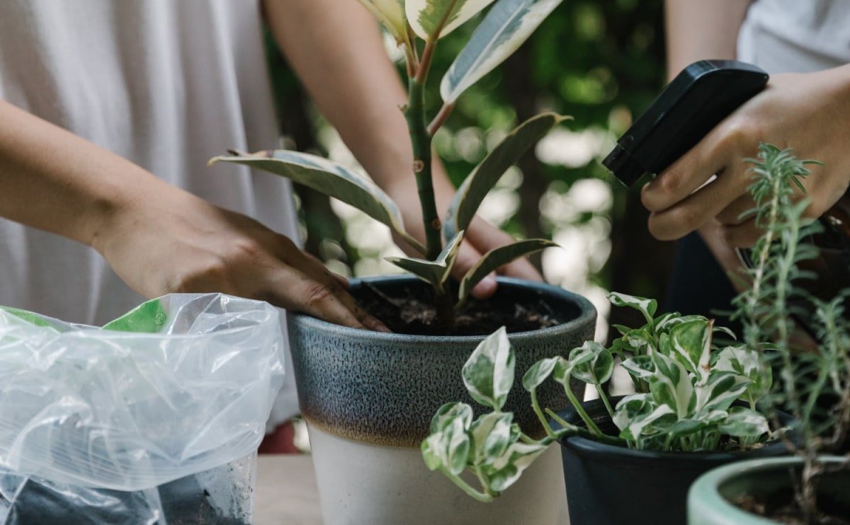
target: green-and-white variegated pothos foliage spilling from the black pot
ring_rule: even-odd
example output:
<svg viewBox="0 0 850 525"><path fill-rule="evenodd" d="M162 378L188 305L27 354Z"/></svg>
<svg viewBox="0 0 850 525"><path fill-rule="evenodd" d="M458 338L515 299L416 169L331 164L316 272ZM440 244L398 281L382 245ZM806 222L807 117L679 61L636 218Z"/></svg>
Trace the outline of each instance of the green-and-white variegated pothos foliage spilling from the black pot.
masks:
<svg viewBox="0 0 850 525"><path fill-rule="evenodd" d="M542 359L523 376L545 437L529 437L513 422L513 414L501 411L514 377L513 349L501 329L479 344L462 369L470 396L491 411L473 419L468 404L443 405L422 442L428 468L443 472L477 500L490 501L561 437L579 435L659 452L745 449L768 439L768 420L757 411L756 403L772 381L757 351L744 345L717 347L714 333L728 330L715 327L711 319L676 313L656 318L654 300L618 293L609 299L638 309L646 324L636 329L618 327L621 338L610 348L586 342L574 348L569 358ZM602 385L614 371L615 356L624 359L637 393L613 407ZM584 426L541 408L537 388L550 377L564 387ZM599 429L570 390L570 378L597 389L618 435ZM733 405L736 400L744 403ZM471 471L480 488L461 477L463 471Z"/></svg>

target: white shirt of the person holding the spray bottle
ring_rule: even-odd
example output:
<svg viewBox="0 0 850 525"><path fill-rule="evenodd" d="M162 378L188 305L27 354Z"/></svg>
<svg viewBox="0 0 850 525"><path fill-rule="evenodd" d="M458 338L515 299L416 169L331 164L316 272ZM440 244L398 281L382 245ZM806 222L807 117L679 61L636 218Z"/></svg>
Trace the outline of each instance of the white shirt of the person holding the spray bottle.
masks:
<svg viewBox="0 0 850 525"><path fill-rule="evenodd" d="M850 0L757 0L738 36L738 59L768 73L850 62Z"/></svg>

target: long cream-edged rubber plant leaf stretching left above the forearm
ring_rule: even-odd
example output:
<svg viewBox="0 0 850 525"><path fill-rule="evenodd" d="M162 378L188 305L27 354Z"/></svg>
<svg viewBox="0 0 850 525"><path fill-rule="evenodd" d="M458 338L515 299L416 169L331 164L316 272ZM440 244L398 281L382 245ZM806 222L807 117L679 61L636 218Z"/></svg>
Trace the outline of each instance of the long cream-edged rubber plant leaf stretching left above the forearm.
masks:
<svg viewBox="0 0 850 525"><path fill-rule="evenodd" d="M336 162L316 155L288 150L267 150L253 154L234 152L233 155L217 156L209 161L210 164L216 162L241 164L275 173L337 200L342 200L378 222L386 224L416 250L425 253L422 243L405 232L399 207L389 198L389 195L368 178Z"/></svg>

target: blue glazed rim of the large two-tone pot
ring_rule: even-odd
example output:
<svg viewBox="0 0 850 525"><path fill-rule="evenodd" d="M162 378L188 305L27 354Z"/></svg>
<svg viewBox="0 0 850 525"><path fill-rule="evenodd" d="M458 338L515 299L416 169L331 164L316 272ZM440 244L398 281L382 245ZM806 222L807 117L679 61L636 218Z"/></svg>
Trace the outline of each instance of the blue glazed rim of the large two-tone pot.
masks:
<svg viewBox="0 0 850 525"><path fill-rule="evenodd" d="M540 330L529 330L524 332L511 332L508 334L511 341L518 342L525 339L536 339L538 337L558 336L564 331L569 331L574 327L580 327L596 319L596 308L586 297L580 296L571 291L566 291L563 288L554 285L547 285L536 281L514 279L513 277L498 277L498 282L501 285L513 285L532 290L541 291L548 296L559 296L561 300L574 302L581 312L575 319L570 319L566 323L541 328ZM382 275L380 277L365 277L362 279L351 279L350 285L359 285L360 283L368 282L371 284L381 284L384 282L393 282L399 280L407 280L416 282L416 277L412 275ZM370 342L398 342L399 339L416 342L439 342L439 343L471 343L479 342L486 336L424 336L417 334L396 334L387 332L377 332L373 330L361 330L343 325L335 325L321 319L314 318L306 313L287 313L297 319L299 325L304 328L312 328L320 330L325 334L333 334L335 336L344 336L353 340L370 341Z"/></svg>

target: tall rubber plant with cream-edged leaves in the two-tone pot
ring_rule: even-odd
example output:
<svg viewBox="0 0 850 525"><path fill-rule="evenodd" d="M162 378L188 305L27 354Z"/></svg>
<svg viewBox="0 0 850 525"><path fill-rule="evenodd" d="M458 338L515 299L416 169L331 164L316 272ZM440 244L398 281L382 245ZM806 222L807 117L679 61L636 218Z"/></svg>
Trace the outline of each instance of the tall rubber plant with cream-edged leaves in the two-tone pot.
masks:
<svg viewBox="0 0 850 525"><path fill-rule="evenodd" d="M445 221L440 221L432 182L433 134L445 123L462 93L482 76L500 65L530 37L561 0L359 0L392 35L404 51L409 101L404 108L413 146L411 177L422 206L425 244L405 231L399 207L390 197L359 173L326 159L295 151L261 151L254 154L231 152L212 162L235 162L272 172L302 183L365 212L387 225L422 258L393 257L400 268L433 287L439 322L452 325L478 282L497 268L554 246L548 240L524 240L484 254L480 262L462 278L457 296L450 294L446 281L455 262L464 230L477 212L484 196L501 175L549 130L566 117L545 113L525 121L507 134L457 190ZM457 55L439 86L443 106L432 120L425 115L424 93L434 50L439 39L494 5L461 53ZM445 240L445 242L444 242Z"/></svg>

